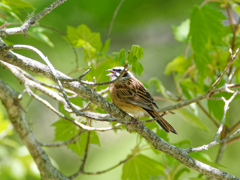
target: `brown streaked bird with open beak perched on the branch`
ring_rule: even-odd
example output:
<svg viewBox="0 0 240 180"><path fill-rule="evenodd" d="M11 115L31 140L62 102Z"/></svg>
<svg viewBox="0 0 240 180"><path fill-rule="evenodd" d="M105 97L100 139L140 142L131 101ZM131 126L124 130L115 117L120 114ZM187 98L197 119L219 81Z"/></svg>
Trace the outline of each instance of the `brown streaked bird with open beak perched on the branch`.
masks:
<svg viewBox="0 0 240 180"><path fill-rule="evenodd" d="M107 74L107 76L110 76L110 81L116 80L124 69L121 66L107 69L106 71L110 71ZM177 134L177 131L155 110L158 106L153 97L130 71L125 70L118 81L111 83L109 92L112 103L126 113L139 118L140 115L147 112L152 118L157 118L156 122L167 133Z"/></svg>

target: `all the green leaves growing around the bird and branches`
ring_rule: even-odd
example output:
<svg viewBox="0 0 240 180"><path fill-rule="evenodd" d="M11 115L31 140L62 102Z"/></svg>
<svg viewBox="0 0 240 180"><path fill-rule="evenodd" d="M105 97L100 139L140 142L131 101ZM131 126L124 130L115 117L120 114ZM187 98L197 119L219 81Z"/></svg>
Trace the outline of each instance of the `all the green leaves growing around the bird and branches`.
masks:
<svg viewBox="0 0 240 180"><path fill-rule="evenodd" d="M234 9L239 14L240 6L238 4L234 5ZM222 4L222 6L224 6L224 4ZM6 19L0 18L1 22L8 20L17 23L22 23L24 18L26 18L26 16L24 16L24 18L22 17L23 15L21 12L23 9L34 9L29 3L22 0L17 0L16 2L2 0L0 2L0 7L7 15ZM184 20L179 26L172 26L175 39L180 43L186 44L185 53L178 55L169 62L164 71L166 75L172 75L174 77L177 95L169 92L163 82L156 77L150 78L147 84L153 84L156 91L161 93L166 100L171 102L189 100L210 89L211 85L219 77L219 74L221 74L229 62L229 47L235 50L240 44L238 41L236 41L235 44L232 43L233 32L231 32L230 26L223 25L223 21L226 19L225 15L223 15L219 9L211 7L208 4L193 7L190 18ZM54 43L46 34L46 32L49 31L50 30L47 28L36 26L30 28L28 35L44 42L50 47L53 47ZM238 36L238 33L239 29L236 30L235 35ZM64 38L74 48L77 48L78 53L82 54L85 67L92 67L92 70L85 76L87 81L94 81L93 77L96 78L97 82L108 81L108 78L105 76L105 70L112 68L113 66L123 66L126 63L129 64L129 68L135 74L141 75L144 72L143 65L140 63L144 53L143 47L140 45L132 45L130 50L121 49L117 53L109 52L111 39L108 38L105 41L102 41L103 38L101 37L101 34L99 32L93 32L87 24L77 25L76 28L73 26L67 26L66 36ZM239 62L236 63L239 65ZM84 70L86 68L84 68ZM239 70L240 68L238 67L235 73L236 77L233 79L233 81L237 83L239 83L240 79ZM227 78L223 78L220 84L223 85L226 81ZM97 90L99 91L105 88L106 86L101 86L97 87ZM228 99L229 94L222 93L215 97L225 97ZM107 98L109 99L109 97ZM87 104L87 102L80 97L72 99L71 102L80 107L84 107ZM223 107L224 103L222 101L207 100L209 115L212 115L218 122L221 121ZM89 109L99 113L103 112L94 104L91 104ZM59 111L65 116L71 116L70 113L67 113L64 110L62 105L59 105ZM182 108L175 112L176 116L181 117L181 119L186 121L193 128L209 132L209 128L200 119L199 112L194 105L189 108ZM91 126L93 122L87 118L76 119L78 122L89 126ZM0 116L0 124L1 134L1 132L6 130L9 126L9 121ZM78 127L64 119L54 122L52 126L55 128L55 141L67 141L80 132ZM163 130L160 130L153 123L146 124L146 126L165 141L170 141L168 134ZM0 157L10 157L11 153L17 153L19 149L21 150L21 145L15 140L9 140L9 142L7 142L12 133L12 131L9 131L9 134L7 134L4 139L0 140L1 144L7 146L7 148L3 145L0 146ZM88 139L90 139L89 142ZM158 155L159 152L156 152L156 150L145 140L141 138L139 139L140 140L137 140L135 145L135 150L137 149L137 152L128 155L127 158L130 157L130 159L122 166L123 180L169 179L169 177L177 180L181 179L181 176L184 173L190 173L188 168L183 167L180 162L177 162L168 155L160 154L161 158L158 159L152 159L143 155L142 152L149 149ZM101 136L95 131L91 133L83 131L79 136L78 141L67 145L67 148L71 149L78 156L84 157L88 145L97 145L98 147L101 147ZM175 145L180 148L192 146L189 140L177 142ZM15 149L13 150L11 148ZM8 149L11 149L9 151L11 153L8 152ZM3 174L3 179L6 178L7 175L16 179L16 177L13 177L14 173L11 172L13 171L11 168L13 167L22 168L20 174L18 174L19 179L24 179L24 176L29 178L38 177L33 170L30 170L28 174L26 173L27 168L31 169L28 166L32 163L29 154L25 153L24 155L16 156L16 159L13 159L12 157L10 158L10 161L12 161L11 163L14 166L10 167L8 165L6 167L1 167L0 172ZM194 153L192 157L214 167L223 167L215 163L205 152ZM19 159L21 161L19 161ZM0 162L1 161L5 162L4 159L1 159ZM199 177L195 177L195 179L197 178Z"/></svg>

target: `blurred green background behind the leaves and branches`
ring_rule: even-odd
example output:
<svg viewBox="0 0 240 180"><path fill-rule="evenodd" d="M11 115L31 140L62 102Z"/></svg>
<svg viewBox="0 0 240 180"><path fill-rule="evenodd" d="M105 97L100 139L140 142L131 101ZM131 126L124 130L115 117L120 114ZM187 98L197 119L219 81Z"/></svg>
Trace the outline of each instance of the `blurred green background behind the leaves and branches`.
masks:
<svg viewBox="0 0 240 180"><path fill-rule="evenodd" d="M30 4L36 8L34 11L34 14L36 14L54 1L28 0L27 2L30 2ZM63 33L66 33L68 25L77 27L80 24L86 24L92 32L100 32L102 40L105 40L108 26L119 2L119 0L68 0L53 10L50 14L46 15L39 21L39 23L57 29ZM164 69L168 62L179 54L184 53L186 44L174 40L172 25L179 25L182 21L189 18L192 8L202 2L202 0L125 0L113 24L110 35L111 45L109 52L119 52L122 48L127 50L131 49L133 44L142 46L144 49L144 58L141 60L141 63L144 66L145 71L142 76L138 78L147 82L150 77L158 77L168 90L175 92L174 80L171 76L166 76L164 74ZM212 5L214 6L214 4ZM31 14L31 12L28 13ZM14 42L16 44L29 44L35 46L49 58L56 69L63 73L69 73L75 68L75 55L71 46L61 37L61 35L54 31L49 30L47 35L53 42L54 47L49 47L32 37L24 38L22 35L9 36L6 39L6 42L9 44ZM16 52L42 62L42 60L34 53L24 50ZM86 64L82 60L83 55L81 51L77 50L77 53L80 67L86 67ZM78 77L79 74L73 74L72 77ZM2 67L0 69L0 78L10 84L17 91L21 92L21 90L23 90L23 86L16 81L13 75L7 70L3 70ZM149 87L149 91L155 96L160 96L160 94L154 90L153 86ZM43 98L46 98L57 107L56 102L46 96L43 96ZM28 99L29 97L24 95L23 105L27 104ZM167 102L157 101L157 103L160 107L168 105ZM204 101L202 104L206 105ZM236 106L231 106L232 112L236 112L234 107ZM52 142L54 139L54 128L51 127L51 124L57 121L58 117L35 100L31 102L30 106L28 106L27 111L27 119L37 139L43 143ZM205 122L209 129L214 133L207 133L195 129L175 115L167 115L166 119L179 133L177 136L169 134L171 143L190 139L193 147L196 147L212 141L214 133L216 132L215 126L213 126L208 118L201 114L201 112L200 119ZM106 127L108 124L102 123L101 126ZM89 172L104 170L117 164L119 161L125 159L127 154L131 153L131 149L134 148L136 144L136 134L129 134L126 131L118 131L118 133L109 131L99 133L99 135L102 147L90 146L85 169ZM12 137L19 141L15 134L12 135ZM217 148L218 146L215 146L207 152L212 160L215 160L216 158ZM239 143L234 143L227 148L222 159L222 164L227 168L225 170L236 176L240 176L239 162L235 161L235 159L240 158L238 153L239 148ZM78 170L81 158L72 153L71 150L64 147L44 149L47 151L55 165L64 174L71 175ZM144 154L155 160L161 159L161 155L157 156L153 154L152 151L144 151ZM19 166L16 167L18 168ZM122 166L101 175L80 175L77 179L120 180L122 173L121 170ZM196 174L195 171L191 171L190 175L185 173L184 176L188 179L187 177L194 177ZM24 176L24 174L20 176ZM3 177L3 179L4 178L5 177ZM9 177L9 179L11 178L15 179L14 176ZM36 179L39 178L36 177Z"/></svg>

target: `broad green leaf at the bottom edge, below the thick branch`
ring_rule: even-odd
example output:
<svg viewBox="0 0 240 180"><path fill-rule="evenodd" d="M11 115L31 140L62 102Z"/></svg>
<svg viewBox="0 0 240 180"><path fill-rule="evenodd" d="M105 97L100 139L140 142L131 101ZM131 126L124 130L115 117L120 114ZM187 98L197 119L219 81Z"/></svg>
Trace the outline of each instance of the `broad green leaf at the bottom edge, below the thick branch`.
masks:
<svg viewBox="0 0 240 180"><path fill-rule="evenodd" d="M122 180L146 180L164 174L159 162L139 154L123 165Z"/></svg>

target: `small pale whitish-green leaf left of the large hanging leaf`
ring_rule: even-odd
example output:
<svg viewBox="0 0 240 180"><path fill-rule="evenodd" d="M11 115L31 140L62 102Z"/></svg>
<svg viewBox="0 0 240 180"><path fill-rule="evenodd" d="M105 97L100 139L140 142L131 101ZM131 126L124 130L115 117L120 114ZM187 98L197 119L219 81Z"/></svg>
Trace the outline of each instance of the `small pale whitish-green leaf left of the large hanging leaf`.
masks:
<svg viewBox="0 0 240 180"><path fill-rule="evenodd" d="M172 26L174 37L179 42L187 42L190 19L186 19L179 26Z"/></svg>

